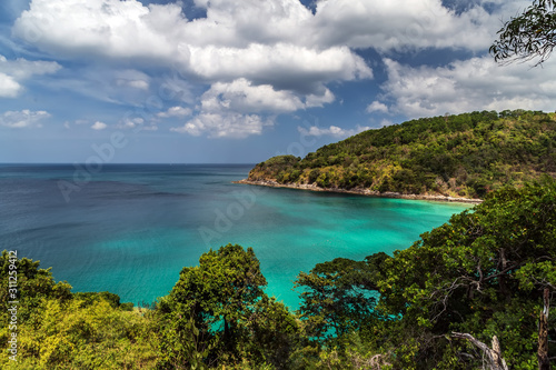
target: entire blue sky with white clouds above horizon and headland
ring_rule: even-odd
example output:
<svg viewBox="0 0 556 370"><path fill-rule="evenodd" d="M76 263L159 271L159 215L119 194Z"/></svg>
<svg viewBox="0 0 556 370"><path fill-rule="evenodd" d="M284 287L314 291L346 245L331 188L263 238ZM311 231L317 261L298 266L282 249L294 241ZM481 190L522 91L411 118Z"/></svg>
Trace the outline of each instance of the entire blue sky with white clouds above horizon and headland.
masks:
<svg viewBox="0 0 556 370"><path fill-rule="evenodd" d="M0 162L257 163L364 130L554 111L488 54L513 0L2 0Z"/></svg>

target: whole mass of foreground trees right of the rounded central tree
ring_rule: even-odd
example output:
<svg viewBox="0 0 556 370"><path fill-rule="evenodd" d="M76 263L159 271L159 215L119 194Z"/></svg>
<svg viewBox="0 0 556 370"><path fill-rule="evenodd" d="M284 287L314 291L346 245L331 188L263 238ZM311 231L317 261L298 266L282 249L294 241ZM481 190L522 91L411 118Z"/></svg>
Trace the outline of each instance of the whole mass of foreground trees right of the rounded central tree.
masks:
<svg viewBox="0 0 556 370"><path fill-rule="evenodd" d="M342 366L379 357L394 369L479 369L485 353L473 343L496 337L510 368L537 369L543 292L556 293L555 246L556 182L505 187L393 257L301 273L300 318L306 334L336 348L320 357L326 366L336 353ZM553 314L549 353L555 322Z"/></svg>

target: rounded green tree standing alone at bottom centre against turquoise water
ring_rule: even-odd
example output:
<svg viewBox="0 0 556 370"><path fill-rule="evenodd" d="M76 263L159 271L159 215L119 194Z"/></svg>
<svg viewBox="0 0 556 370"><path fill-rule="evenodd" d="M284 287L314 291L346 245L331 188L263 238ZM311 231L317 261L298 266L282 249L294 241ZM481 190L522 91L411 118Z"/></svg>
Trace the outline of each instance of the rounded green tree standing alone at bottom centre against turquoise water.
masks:
<svg viewBox="0 0 556 370"><path fill-rule="evenodd" d="M157 306L162 327L159 368L239 361L282 368L296 342L297 323L284 304L267 297L266 284L254 250L237 244L210 250L199 266L183 268Z"/></svg>

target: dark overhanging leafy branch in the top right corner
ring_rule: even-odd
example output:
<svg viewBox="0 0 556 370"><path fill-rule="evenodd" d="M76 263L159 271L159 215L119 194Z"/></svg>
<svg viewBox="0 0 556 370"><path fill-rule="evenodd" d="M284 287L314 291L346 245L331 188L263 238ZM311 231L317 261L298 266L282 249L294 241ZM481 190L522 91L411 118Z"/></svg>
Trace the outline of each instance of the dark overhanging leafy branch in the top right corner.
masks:
<svg viewBox="0 0 556 370"><path fill-rule="evenodd" d="M512 18L498 31L490 53L499 62L528 61L539 58L537 66L556 46L556 1L535 0L523 14Z"/></svg>

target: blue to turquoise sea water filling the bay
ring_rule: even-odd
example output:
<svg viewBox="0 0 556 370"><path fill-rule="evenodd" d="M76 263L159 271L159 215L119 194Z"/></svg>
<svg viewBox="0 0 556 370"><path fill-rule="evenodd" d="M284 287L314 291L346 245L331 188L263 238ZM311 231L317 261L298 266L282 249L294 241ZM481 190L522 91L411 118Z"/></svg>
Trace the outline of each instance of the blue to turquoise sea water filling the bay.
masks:
<svg viewBox="0 0 556 370"><path fill-rule="evenodd" d="M0 164L0 250L40 260L73 291L122 302L168 294L210 248L252 247L267 293L337 257L405 249L468 204L274 189L231 181L252 164Z"/></svg>

